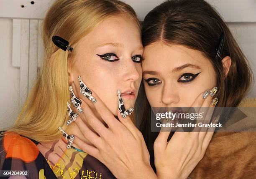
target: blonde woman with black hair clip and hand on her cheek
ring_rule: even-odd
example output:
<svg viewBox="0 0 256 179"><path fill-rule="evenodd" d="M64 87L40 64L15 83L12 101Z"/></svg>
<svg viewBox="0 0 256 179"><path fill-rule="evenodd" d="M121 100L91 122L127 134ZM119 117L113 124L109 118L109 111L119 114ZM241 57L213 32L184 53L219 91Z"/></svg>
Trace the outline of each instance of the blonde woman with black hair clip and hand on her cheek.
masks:
<svg viewBox="0 0 256 179"><path fill-rule="evenodd" d="M143 136L129 118L143 55L131 6L118 0L56 0L42 37L45 54L36 84L18 119L2 132L0 170L23 171L31 179L156 178ZM203 153L192 155L193 165ZM180 160L161 156L168 166Z"/></svg>

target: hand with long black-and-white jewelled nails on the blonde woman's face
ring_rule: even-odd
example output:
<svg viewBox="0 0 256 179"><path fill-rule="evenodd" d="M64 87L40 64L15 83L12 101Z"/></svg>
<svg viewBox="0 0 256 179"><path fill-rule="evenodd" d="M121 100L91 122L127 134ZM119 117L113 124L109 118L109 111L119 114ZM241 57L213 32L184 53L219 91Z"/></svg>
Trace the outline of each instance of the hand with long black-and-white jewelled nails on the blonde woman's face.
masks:
<svg viewBox="0 0 256 179"><path fill-rule="evenodd" d="M122 118L117 109L120 120L118 121L99 96L93 91L92 94L97 99L97 102L93 103L94 107L108 127L102 124L85 102L86 100L83 100L84 97L80 95L84 112L79 114L75 122L84 138L92 145L85 143L77 136L75 136L74 144L105 164L118 179L155 179L156 174L150 166L149 153L141 132L129 116Z"/></svg>

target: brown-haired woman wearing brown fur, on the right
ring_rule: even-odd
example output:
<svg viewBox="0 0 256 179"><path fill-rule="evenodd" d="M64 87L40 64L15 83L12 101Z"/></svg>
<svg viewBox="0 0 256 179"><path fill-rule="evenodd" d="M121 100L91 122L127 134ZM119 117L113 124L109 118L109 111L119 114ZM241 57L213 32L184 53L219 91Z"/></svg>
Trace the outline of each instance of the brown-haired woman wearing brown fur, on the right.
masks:
<svg viewBox="0 0 256 179"><path fill-rule="evenodd" d="M168 0L157 6L144 19L142 41L147 99L141 131L153 168L153 143L158 133L150 131L151 107L192 106L200 93L215 86L217 106L256 106L253 99L241 102L253 81L246 57L206 1ZM253 127L255 123L247 129ZM215 133L190 177L254 178L255 141L255 132Z"/></svg>

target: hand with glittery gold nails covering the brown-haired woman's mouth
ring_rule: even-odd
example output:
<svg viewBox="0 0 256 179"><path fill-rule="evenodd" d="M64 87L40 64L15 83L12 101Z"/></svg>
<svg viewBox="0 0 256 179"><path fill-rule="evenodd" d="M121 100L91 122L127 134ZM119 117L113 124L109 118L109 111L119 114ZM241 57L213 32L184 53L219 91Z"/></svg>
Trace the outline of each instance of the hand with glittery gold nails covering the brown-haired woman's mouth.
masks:
<svg viewBox="0 0 256 179"><path fill-rule="evenodd" d="M197 113L204 113L203 123L210 122L214 111L211 106L212 96L202 98L201 93L192 106L201 106ZM199 120L197 121L198 124ZM217 123L217 120L213 123ZM154 156L156 174L159 179L186 179L192 170L203 158L207 149L214 128L196 127L192 132L176 131L169 142L167 142L170 132L160 131L154 142Z"/></svg>

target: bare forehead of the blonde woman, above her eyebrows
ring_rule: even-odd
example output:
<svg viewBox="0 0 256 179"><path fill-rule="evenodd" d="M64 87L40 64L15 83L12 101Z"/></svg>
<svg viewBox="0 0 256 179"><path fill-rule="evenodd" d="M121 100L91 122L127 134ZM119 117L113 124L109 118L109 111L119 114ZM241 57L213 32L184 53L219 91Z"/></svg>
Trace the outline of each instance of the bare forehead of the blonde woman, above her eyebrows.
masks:
<svg viewBox="0 0 256 179"><path fill-rule="evenodd" d="M120 43L131 45L141 43L141 35L138 26L127 15L113 15L103 20L89 34L81 40L81 45L90 43L91 47L97 47L105 43Z"/></svg>

